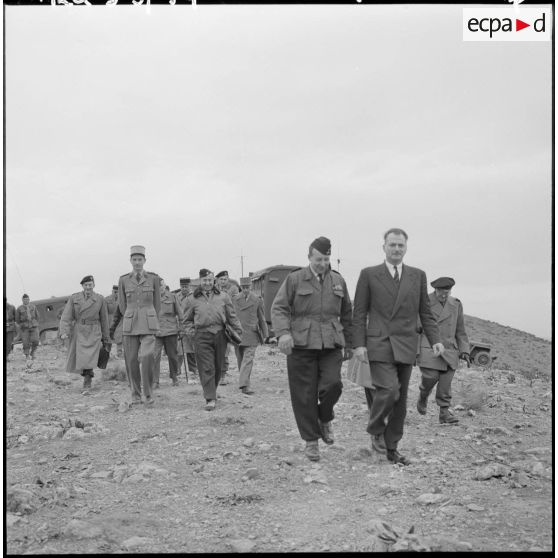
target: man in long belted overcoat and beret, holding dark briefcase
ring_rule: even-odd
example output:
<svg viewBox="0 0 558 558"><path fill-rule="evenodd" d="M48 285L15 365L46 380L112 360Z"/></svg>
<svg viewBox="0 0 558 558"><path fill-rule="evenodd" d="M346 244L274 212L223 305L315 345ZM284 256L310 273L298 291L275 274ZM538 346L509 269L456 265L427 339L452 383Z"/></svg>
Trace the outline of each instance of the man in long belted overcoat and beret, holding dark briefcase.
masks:
<svg viewBox="0 0 558 558"><path fill-rule="evenodd" d="M93 276L86 275L80 283L83 291L72 294L66 302L59 333L61 339L67 339L71 332L66 372L79 372L87 389L91 387L101 346L109 343L109 323L107 303L94 292Z"/></svg>

